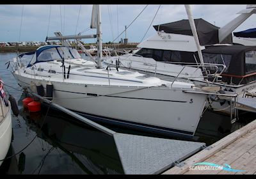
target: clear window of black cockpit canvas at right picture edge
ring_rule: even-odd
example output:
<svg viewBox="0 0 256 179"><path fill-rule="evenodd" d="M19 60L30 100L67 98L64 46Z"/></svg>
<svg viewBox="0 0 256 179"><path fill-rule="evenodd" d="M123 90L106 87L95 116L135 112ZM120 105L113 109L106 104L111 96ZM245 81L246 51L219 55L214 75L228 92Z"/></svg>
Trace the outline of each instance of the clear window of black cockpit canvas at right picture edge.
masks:
<svg viewBox="0 0 256 179"><path fill-rule="evenodd" d="M246 74L256 72L256 51L245 52L245 71Z"/></svg>

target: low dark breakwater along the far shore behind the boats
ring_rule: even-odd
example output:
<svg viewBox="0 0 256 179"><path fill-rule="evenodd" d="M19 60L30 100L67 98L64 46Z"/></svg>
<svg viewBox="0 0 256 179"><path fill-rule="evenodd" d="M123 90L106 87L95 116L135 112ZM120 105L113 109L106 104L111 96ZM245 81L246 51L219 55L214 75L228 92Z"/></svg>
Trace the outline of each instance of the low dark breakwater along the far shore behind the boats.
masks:
<svg viewBox="0 0 256 179"><path fill-rule="evenodd" d="M86 44L84 45L84 47L86 49L89 49L90 45L94 45L95 44ZM116 49L135 49L136 46L138 45L138 43L129 43L129 44L102 44L102 46L104 47L109 47L109 48L114 48L116 47ZM31 52L31 51L36 51L38 47L37 46L6 46L6 47L0 47L0 52Z"/></svg>

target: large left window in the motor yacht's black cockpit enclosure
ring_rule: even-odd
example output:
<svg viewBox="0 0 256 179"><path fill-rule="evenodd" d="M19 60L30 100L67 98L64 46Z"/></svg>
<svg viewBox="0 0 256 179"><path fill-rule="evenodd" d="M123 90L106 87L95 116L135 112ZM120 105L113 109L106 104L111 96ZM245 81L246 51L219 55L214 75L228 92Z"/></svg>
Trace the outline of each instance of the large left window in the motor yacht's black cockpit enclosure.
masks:
<svg viewBox="0 0 256 179"><path fill-rule="evenodd" d="M203 53L203 58L204 58L204 63L212 63L214 64L222 64L227 66L227 70L225 70L225 72L228 71L228 67L230 65L230 61L231 61L231 55L228 54L208 54L208 53ZM214 67L208 67L211 70L216 70L216 68ZM221 72L221 70L223 70L222 66L218 66L218 73Z"/></svg>

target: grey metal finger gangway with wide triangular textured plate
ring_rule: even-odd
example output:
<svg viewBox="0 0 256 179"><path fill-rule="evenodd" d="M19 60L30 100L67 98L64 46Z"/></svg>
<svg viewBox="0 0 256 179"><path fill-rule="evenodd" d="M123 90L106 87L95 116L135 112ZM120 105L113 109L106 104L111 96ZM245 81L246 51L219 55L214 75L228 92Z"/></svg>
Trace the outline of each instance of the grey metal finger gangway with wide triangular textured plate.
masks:
<svg viewBox="0 0 256 179"><path fill-rule="evenodd" d="M77 120L83 121L109 136L113 136L125 174L146 175L163 173L166 169L175 166L177 162L190 157L205 146L205 143L192 141L118 133L88 120L61 105L54 104L36 93L32 94L52 107L77 118Z"/></svg>

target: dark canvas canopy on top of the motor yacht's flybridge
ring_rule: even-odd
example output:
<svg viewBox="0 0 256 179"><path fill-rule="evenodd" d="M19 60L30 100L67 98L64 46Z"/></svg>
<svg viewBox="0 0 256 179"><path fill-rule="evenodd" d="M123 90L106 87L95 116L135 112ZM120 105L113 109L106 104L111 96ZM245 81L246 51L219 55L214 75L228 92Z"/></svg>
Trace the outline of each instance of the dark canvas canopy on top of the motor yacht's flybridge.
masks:
<svg viewBox="0 0 256 179"><path fill-rule="evenodd" d="M194 21L200 45L212 45L220 43L218 37L218 29L220 29L220 27L214 26L204 19L195 19ZM156 31L159 29L159 31L164 31L165 33L193 36L188 19L156 25L153 27L156 29ZM225 40L223 40L221 43L232 44L232 35L228 35L227 38L225 38Z"/></svg>

